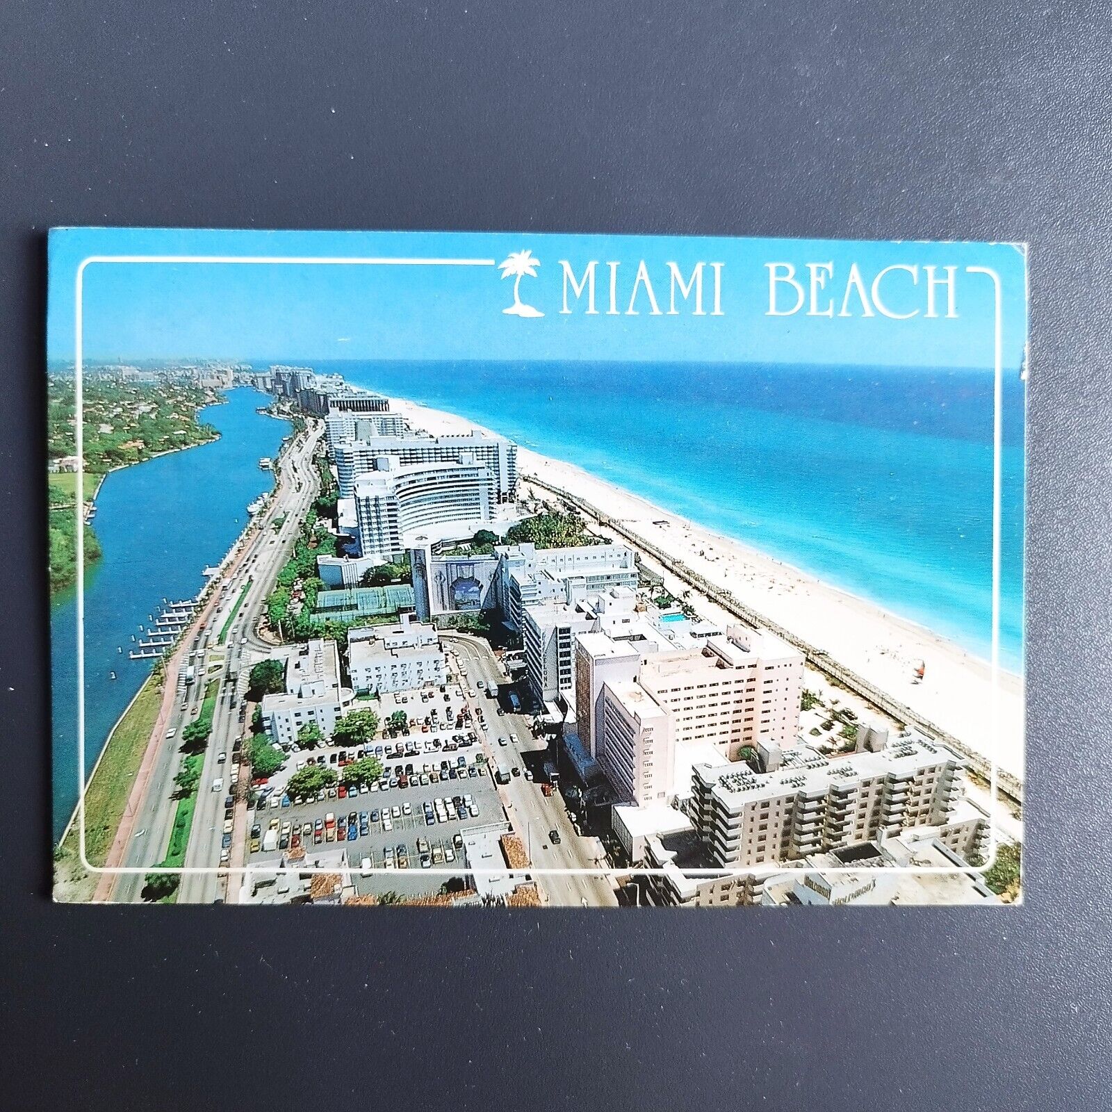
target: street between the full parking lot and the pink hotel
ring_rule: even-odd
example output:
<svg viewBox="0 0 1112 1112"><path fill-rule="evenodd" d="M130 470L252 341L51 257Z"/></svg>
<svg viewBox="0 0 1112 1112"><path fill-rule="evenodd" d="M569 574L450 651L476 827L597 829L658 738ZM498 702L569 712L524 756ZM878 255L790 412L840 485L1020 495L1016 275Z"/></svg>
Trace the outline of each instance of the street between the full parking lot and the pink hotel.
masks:
<svg viewBox="0 0 1112 1112"><path fill-rule="evenodd" d="M499 715L495 701L483 695L476 686L477 681L496 685L506 683L506 674L490 646L460 634L444 633L441 636L445 645L455 652L457 663L466 669L466 675L461 677L464 696L473 714L475 709L481 709L483 718L488 724L487 731L476 725L488 755L495 761L500 759L507 767L517 765L522 770L522 775L510 776L509 783L498 788L498 794L515 832L525 842L533 865L536 868L605 868L602 845L595 837L576 833L559 792L545 796L539 783L525 778L526 768L539 772L543 754L547 751L544 741L533 737L528 716ZM471 691L474 696L469 694ZM500 737L507 741L505 746L498 744ZM549 840L548 832L552 830L559 833L558 845L553 845ZM617 906L617 897L606 876L542 875L537 882L554 906Z"/></svg>

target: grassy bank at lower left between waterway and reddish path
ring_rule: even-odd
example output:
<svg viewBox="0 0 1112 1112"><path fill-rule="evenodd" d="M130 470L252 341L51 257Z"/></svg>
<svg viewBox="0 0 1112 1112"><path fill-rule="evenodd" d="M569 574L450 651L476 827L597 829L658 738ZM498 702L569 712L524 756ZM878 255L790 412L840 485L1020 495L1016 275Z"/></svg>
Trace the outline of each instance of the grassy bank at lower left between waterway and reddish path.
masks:
<svg viewBox="0 0 1112 1112"><path fill-rule="evenodd" d="M85 791L85 845L90 864L102 866L116 841L136 775L162 705L162 683L151 675L119 721ZM54 852L54 897L87 901L97 877L81 865L78 823Z"/></svg>

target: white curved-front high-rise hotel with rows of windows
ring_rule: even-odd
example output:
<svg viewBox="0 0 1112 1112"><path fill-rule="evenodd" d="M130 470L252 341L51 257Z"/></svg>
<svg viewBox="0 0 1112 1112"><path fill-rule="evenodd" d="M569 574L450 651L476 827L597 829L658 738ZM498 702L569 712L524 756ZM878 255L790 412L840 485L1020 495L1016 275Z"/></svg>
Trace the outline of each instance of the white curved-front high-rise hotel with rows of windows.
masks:
<svg viewBox="0 0 1112 1112"><path fill-rule="evenodd" d="M380 456L355 481L360 555L398 558L419 534L469 536L494 517L490 471L466 453L458 460L399 464Z"/></svg>

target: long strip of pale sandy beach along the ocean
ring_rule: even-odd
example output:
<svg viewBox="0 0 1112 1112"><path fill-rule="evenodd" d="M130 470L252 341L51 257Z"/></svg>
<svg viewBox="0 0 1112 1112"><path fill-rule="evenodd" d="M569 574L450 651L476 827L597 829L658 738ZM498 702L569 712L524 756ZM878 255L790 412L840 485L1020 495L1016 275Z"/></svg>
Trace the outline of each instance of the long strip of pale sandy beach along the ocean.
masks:
<svg viewBox="0 0 1112 1112"><path fill-rule="evenodd" d="M430 433L463 433L481 426L463 417L400 398L391 406ZM523 479L536 475L584 498L629 529L682 560L707 580L728 589L746 606L790 629L960 738L974 752L1023 778L1023 679L999 672L999 745L992 729L992 669L930 629L866 599L678 514L638 498L572 464L518 448ZM725 617L713 605L697 606L712 622ZM922 682L915 669L925 667ZM994 748L999 752L994 753Z"/></svg>

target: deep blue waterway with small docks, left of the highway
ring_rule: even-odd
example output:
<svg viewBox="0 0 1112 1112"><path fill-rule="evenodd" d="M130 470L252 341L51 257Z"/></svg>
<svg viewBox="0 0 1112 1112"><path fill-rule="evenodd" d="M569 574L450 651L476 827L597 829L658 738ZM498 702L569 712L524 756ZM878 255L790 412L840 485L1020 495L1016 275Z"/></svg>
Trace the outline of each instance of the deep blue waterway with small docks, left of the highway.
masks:
<svg viewBox="0 0 1112 1112"><path fill-rule="evenodd" d="M85 577L86 766L92 768L108 733L142 682L151 661L131 661L131 634L163 598L192 598L202 572L228 550L247 523L247 506L269 490L260 456L275 456L286 421L256 413L265 395L236 389L202 421L220 439L112 471L97 497L93 528L103 558ZM78 796L77 604L67 592L51 620L54 837ZM122 648L123 652L118 652ZM110 678L115 672L117 679Z"/></svg>

